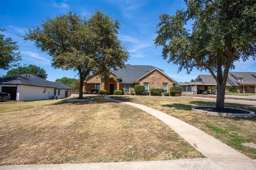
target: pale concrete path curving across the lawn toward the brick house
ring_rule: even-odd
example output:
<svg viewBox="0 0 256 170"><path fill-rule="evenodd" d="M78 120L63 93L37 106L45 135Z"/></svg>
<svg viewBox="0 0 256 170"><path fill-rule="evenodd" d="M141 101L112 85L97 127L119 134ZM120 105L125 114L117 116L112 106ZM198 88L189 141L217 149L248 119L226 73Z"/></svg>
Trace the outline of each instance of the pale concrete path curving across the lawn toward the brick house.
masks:
<svg viewBox="0 0 256 170"><path fill-rule="evenodd" d="M218 141L214 137L204 133L203 131L197 129L196 127L181 121L175 117L172 117L162 111L152 109L141 104L135 104L131 102L124 102L120 100L115 100L110 97L105 97L107 100L114 102L120 102L123 104L128 104L130 106L137 107L146 111L150 115L163 121L166 125L172 128L176 133L178 133L182 138L184 138L190 145L201 152L204 156L208 158L226 158L226 159L250 159L244 154L232 149L228 145Z"/></svg>

